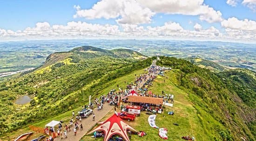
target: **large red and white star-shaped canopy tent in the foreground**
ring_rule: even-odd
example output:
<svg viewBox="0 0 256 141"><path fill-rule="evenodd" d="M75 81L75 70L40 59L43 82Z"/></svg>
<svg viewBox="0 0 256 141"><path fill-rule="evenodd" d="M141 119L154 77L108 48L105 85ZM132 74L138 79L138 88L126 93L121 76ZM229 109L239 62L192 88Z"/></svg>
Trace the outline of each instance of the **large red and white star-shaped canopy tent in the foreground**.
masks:
<svg viewBox="0 0 256 141"><path fill-rule="evenodd" d="M103 141L108 141L112 135L120 135L125 141L130 141L127 134L128 129L136 131L134 128L123 122L120 117L114 114L88 134L92 134L95 131L100 130L105 133Z"/></svg>

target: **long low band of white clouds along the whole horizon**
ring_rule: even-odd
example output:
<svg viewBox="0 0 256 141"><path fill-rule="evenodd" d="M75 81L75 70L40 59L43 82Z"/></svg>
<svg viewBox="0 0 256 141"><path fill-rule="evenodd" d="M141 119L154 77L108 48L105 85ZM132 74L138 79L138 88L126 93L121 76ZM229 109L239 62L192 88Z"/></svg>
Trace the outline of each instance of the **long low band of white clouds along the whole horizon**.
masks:
<svg viewBox="0 0 256 141"><path fill-rule="evenodd" d="M228 20L227 20L228 21ZM230 19L229 19L230 21ZM246 23L247 20L242 22ZM223 21L224 25L226 21ZM234 21L230 21L234 22ZM240 21L241 22L241 21ZM249 21L248 21L249 22ZM223 27L224 27L223 25ZM250 24L248 24L250 25ZM226 26L226 25L225 25ZM86 22L68 22L67 25L49 25L37 23L23 31L0 29L0 40L17 39L82 39L82 38L154 38L154 39L195 39L195 40L224 40L235 39L256 42L253 28L241 30L242 27L226 28L225 34L211 26L203 29L198 23L194 30L186 30L179 23L166 22L163 26L138 26L135 24L99 25ZM228 27L228 26L227 26ZM243 27L244 28L244 27ZM243 29L242 28L242 29ZM247 28L245 28L247 29Z"/></svg>

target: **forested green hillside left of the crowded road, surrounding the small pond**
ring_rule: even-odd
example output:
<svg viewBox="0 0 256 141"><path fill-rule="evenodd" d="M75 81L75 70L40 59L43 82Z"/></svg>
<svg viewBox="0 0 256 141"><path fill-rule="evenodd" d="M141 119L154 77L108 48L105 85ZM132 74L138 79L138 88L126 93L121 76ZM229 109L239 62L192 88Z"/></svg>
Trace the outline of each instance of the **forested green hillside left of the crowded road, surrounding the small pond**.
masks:
<svg viewBox="0 0 256 141"><path fill-rule="evenodd" d="M0 82L0 135L80 107L109 81L149 66L152 58L146 58L135 51L92 46L51 54L37 70ZM33 99L14 104L22 95Z"/></svg>

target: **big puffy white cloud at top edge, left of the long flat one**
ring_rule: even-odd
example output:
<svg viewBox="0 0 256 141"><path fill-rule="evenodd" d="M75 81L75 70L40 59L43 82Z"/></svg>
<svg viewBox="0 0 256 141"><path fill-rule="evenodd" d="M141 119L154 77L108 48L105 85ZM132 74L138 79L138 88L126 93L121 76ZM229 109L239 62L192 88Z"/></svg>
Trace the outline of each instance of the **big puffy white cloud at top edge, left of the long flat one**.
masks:
<svg viewBox="0 0 256 141"><path fill-rule="evenodd" d="M81 10L80 6L74 6L76 14L74 18L87 19L116 19L119 24L143 24L150 23L155 15L147 7L142 7L135 0L101 0L91 9Z"/></svg>

